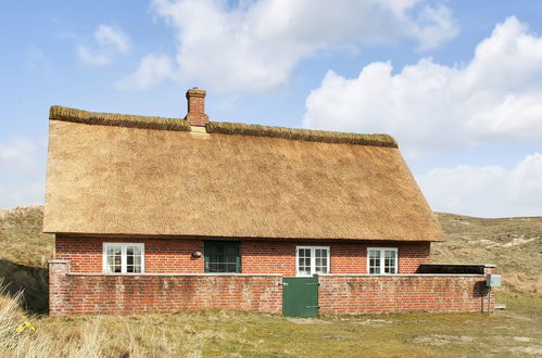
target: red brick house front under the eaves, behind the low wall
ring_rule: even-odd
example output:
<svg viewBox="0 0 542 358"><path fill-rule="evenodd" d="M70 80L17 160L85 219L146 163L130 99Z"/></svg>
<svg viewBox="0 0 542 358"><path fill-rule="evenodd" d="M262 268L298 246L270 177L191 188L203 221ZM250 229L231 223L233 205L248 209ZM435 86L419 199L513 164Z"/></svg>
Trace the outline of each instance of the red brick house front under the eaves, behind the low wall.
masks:
<svg viewBox="0 0 542 358"><path fill-rule="evenodd" d="M56 259L71 260L72 272L102 272L104 242L144 243L146 272L202 273L203 258L192 259L194 251L203 252L202 240L181 239L89 239L56 236ZM419 264L429 261L430 243L338 243L338 242L279 242L242 241L241 267L243 273L281 273L295 277L295 246L330 246L331 273L366 273L367 247L399 248L399 273L414 273Z"/></svg>

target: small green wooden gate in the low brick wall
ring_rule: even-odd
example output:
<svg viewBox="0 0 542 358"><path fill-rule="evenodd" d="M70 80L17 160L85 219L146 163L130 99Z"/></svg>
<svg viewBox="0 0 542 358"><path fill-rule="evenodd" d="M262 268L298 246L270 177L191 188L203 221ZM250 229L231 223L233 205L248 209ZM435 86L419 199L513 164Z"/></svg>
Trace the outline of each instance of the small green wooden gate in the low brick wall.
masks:
<svg viewBox="0 0 542 358"><path fill-rule="evenodd" d="M318 316L318 278L282 279L282 316Z"/></svg>

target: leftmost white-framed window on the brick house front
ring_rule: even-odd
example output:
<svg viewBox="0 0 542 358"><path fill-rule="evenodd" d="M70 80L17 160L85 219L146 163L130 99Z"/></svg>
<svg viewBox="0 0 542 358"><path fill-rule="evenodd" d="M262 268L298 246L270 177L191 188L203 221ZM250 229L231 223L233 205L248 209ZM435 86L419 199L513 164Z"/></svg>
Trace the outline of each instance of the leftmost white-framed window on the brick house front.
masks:
<svg viewBox="0 0 542 358"><path fill-rule="evenodd" d="M144 272L144 244L104 243L103 272Z"/></svg>

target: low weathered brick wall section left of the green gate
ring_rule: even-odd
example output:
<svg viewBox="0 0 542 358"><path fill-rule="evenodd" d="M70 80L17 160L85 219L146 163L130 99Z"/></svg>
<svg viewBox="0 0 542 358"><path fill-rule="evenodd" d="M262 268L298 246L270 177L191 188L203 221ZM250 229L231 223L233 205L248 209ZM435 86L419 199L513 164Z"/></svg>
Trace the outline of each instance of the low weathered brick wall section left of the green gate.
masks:
<svg viewBox="0 0 542 358"><path fill-rule="evenodd" d="M49 264L49 314L171 312L227 308L280 314L281 274L70 273Z"/></svg>

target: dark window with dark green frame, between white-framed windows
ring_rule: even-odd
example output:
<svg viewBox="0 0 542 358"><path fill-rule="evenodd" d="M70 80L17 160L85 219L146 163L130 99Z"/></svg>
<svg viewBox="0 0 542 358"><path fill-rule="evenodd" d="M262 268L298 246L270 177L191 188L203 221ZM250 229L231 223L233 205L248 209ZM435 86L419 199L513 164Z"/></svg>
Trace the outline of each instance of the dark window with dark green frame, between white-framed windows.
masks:
<svg viewBox="0 0 542 358"><path fill-rule="evenodd" d="M205 272L241 272L238 241L205 241Z"/></svg>

